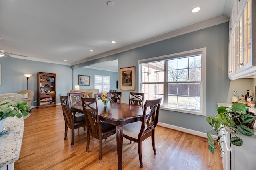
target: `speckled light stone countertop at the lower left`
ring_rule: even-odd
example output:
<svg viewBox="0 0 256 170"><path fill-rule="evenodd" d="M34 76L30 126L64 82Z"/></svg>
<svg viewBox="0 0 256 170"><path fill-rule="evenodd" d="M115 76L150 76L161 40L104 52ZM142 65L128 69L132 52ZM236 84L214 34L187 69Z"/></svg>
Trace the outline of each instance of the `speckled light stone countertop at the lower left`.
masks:
<svg viewBox="0 0 256 170"><path fill-rule="evenodd" d="M19 159L24 128L23 117L6 118L4 128L0 134L0 167Z"/></svg>

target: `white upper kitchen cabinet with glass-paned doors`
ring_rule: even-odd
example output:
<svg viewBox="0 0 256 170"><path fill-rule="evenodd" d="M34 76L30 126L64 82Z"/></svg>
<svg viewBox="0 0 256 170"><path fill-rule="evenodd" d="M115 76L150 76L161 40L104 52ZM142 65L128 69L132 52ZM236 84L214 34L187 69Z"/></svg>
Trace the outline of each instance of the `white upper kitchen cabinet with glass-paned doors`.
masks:
<svg viewBox="0 0 256 170"><path fill-rule="evenodd" d="M255 0L236 0L233 6L229 33L230 80L256 77L255 7Z"/></svg>

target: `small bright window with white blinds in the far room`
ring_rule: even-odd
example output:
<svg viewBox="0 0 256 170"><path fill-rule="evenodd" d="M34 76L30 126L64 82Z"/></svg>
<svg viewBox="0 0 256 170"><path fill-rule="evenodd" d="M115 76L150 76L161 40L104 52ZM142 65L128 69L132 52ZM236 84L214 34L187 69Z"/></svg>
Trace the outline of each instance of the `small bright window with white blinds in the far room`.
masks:
<svg viewBox="0 0 256 170"><path fill-rule="evenodd" d="M99 92L108 92L110 90L110 76L94 75L94 88L98 88Z"/></svg>

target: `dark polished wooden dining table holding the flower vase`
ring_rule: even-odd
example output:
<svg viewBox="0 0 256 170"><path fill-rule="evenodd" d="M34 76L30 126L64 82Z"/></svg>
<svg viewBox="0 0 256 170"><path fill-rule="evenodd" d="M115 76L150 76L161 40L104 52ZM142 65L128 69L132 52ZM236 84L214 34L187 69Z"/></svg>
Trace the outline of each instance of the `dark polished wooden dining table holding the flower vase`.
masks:
<svg viewBox="0 0 256 170"><path fill-rule="evenodd" d="M100 120L116 126L118 170L122 170L123 125L141 121L144 106L108 102L107 106L104 107L101 100L97 100L97 105ZM72 103L71 108L73 111L83 113L81 102Z"/></svg>

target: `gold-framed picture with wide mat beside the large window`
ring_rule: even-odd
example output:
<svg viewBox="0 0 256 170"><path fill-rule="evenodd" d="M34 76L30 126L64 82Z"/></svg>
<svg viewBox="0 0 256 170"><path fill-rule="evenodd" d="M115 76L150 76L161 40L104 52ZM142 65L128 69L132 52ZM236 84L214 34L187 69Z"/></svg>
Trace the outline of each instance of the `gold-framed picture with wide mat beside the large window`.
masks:
<svg viewBox="0 0 256 170"><path fill-rule="evenodd" d="M135 66L120 68L120 90L135 90Z"/></svg>

